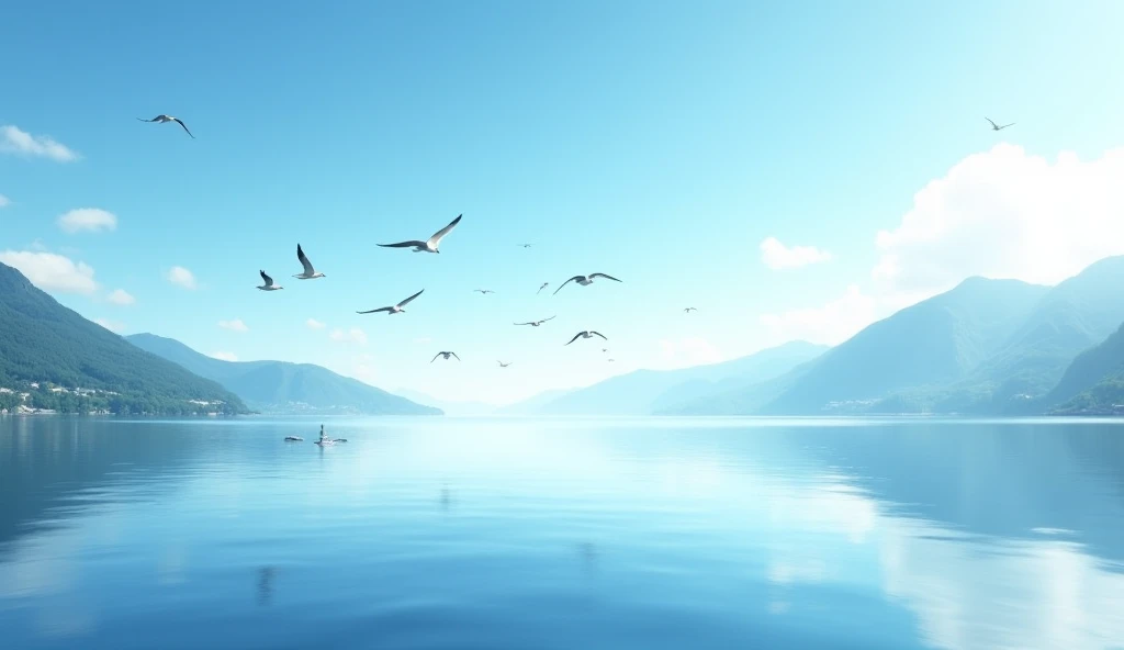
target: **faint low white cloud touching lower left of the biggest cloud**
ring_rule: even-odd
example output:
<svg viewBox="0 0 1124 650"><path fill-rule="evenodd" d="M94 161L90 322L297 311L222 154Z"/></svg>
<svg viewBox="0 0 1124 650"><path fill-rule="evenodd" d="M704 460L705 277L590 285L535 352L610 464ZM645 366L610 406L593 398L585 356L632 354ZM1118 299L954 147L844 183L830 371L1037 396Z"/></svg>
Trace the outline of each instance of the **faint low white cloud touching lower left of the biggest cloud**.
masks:
<svg viewBox="0 0 1124 650"><path fill-rule="evenodd" d="M778 342L803 340L835 345L873 323L881 314L879 308L878 300L851 285L846 294L823 307L765 314L760 321Z"/></svg>

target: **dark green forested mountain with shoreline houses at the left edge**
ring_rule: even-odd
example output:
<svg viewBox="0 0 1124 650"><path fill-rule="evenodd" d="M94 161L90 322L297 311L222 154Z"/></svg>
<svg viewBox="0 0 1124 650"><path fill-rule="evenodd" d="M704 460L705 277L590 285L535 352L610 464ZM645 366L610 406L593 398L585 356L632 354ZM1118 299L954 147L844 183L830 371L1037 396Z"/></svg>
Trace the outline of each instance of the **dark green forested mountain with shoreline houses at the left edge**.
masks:
<svg viewBox="0 0 1124 650"><path fill-rule="evenodd" d="M129 345L0 264L0 407L185 415L246 413L215 381ZM28 392L28 405L19 392Z"/></svg>

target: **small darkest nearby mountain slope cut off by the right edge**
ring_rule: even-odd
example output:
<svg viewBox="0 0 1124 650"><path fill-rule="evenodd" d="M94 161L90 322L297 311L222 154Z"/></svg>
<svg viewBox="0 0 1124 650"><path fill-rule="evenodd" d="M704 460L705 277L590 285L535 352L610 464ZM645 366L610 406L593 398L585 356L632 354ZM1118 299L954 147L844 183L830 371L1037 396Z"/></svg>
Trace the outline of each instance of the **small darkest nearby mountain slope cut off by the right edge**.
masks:
<svg viewBox="0 0 1124 650"><path fill-rule="evenodd" d="M1081 352L1045 398L1053 413L1114 413L1124 404L1124 325Z"/></svg>

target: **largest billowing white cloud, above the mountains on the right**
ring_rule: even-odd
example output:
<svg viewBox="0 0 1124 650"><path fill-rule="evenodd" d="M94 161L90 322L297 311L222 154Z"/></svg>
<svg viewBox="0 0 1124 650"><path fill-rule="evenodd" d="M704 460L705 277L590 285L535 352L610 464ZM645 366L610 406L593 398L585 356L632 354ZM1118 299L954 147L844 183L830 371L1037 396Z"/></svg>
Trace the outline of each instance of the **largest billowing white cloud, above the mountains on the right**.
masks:
<svg viewBox="0 0 1124 650"><path fill-rule="evenodd" d="M957 163L878 233L883 291L932 296L969 276L1053 285L1124 253L1124 147L1054 163L996 145Z"/></svg>

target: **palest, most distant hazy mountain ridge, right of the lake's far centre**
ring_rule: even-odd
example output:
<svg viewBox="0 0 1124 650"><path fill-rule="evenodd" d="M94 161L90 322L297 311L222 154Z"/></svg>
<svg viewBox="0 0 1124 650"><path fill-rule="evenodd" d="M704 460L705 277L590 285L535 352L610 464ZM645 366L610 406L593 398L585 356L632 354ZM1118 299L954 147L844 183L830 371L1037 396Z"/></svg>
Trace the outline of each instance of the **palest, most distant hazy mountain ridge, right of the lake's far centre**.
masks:
<svg viewBox="0 0 1124 650"><path fill-rule="evenodd" d="M715 390L723 381L755 383L779 377L826 350L804 341L756 354L678 370L636 370L540 404L536 414L650 415Z"/></svg>

